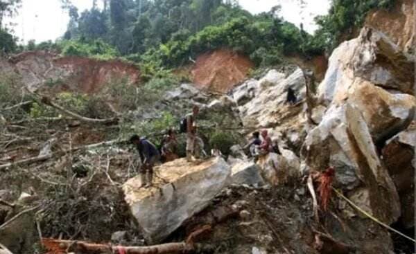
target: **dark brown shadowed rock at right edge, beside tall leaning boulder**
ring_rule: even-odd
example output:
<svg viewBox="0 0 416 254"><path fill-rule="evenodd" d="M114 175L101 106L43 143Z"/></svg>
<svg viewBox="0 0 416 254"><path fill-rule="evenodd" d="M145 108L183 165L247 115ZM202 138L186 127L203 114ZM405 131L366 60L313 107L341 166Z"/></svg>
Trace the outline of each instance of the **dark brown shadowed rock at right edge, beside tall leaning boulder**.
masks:
<svg viewBox="0 0 416 254"><path fill-rule="evenodd" d="M383 161L400 195L401 222L415 226L416 122L390 140L383 148Z"/></svg>

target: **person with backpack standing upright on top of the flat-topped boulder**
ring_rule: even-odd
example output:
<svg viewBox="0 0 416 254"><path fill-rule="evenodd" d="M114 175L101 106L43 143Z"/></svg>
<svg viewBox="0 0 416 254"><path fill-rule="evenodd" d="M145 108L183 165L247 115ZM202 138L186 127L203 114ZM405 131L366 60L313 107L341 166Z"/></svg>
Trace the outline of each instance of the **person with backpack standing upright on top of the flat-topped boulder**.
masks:
<svg viewBox="0 0 416 254"><path fill-rule="evenodd" d="M199 107L193 106L192 113L187 114L186 120L187 120L187 161L191 161L192 156L195 158L199 158L200 156L200 149L196 146L196 117L199 113Z"/></svg>

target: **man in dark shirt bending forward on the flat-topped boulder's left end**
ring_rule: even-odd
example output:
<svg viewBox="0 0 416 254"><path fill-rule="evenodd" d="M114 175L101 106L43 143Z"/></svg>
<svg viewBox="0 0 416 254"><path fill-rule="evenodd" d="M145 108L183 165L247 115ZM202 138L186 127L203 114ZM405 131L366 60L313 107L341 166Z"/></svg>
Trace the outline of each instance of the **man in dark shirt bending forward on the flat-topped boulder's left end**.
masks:
<svg viewBox="0 0 416 254"><path fill-rule="evenodd" d="M137 150L139 151L141 159L141 185L146 184L145 187L149 187L152 185L153 181L153 165L155 165L157 161L160 161L159 151L149 140L140 138L137 135L130 138L130 143L136 145Z"/></svg>

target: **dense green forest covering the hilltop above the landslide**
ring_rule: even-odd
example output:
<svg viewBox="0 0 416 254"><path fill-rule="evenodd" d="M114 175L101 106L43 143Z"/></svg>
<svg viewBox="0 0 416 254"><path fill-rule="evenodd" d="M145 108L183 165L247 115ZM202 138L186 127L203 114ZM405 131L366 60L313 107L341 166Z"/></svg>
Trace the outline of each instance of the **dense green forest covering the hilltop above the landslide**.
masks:
<svg viewBox="0 0 416 254"><path fill-rule="evenodd" d="M225 47L249 55L257 66L270 66L281 62L283 55L307 58L330 53L353 35L372 8L389 8L394 2L333 0L329 14L315 18L319 28L310 35L302 24L297 28L284 21L280 6L252 15L236 0L93 0L92 8L83 12L70 0L60 1L70 17L62 38L17 46L17 38L2 25L0 48L6 53L52 49L63 55L123 57L152 73ZM0 24L19 3L0 1Z"/></svg>

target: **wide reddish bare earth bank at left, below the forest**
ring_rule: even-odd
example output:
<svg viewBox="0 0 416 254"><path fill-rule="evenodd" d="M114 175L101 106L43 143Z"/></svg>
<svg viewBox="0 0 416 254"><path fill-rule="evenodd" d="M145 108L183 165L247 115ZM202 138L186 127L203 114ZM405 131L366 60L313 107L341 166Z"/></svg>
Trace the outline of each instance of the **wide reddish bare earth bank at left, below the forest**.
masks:
<svg viewBox="0 0 416 254"><path fill-rule="evenodd" d="M50 84L53 89L94 93L112 80L125 78L128 83L133 84L140 78L136 66L120 60L60 57L45 51L15 55L10 58L9 63L31 89ZM55 85L59 87L55 88Z"/></svg>

